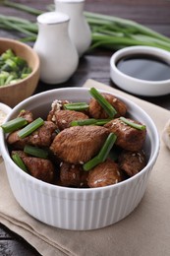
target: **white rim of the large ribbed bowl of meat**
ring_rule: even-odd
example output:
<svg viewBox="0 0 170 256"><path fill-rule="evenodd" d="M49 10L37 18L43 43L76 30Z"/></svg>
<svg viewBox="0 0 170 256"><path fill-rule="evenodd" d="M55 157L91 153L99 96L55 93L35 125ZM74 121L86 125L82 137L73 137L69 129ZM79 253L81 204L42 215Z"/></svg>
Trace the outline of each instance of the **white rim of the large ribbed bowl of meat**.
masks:
<svg viewBox="0 0 170 256"><path fill-rule="evenodd" d="M64 91L72 91L73 94L74 92L76 91L85 91L85 93L89 90L89 88L79 88L79 87L75 87L75 88L60 88L60 89L54 89L54 90L49 90L49 91L46 91L46 92L42 92L42 93L39 93L39 94L36 94L36 95L33 95L33 96L29 96L28 98L24 99L23 101L21 101L19 104L17 104L13 110L10 112L10 114L8 115L8 119L9 120L11 117L12 117L12 114L13 114L13 111L16 111L16 110L19 110L21 109L21 106L23 106L23 104L27 104L29 100L32 100L32 99L38 99L39 97L41 96L45 96L45 95L51 95L51 93L55 94L55 93L58 93L58 92L64 92ZM154 148L154 152L152 154L152 157L151 159L149 159L149 161L147 162L147 164L144 166L144 168L136 175L130 177L129 179L126 179L126 180L123 180L119 183L116 183L116 184L113 184L113 185L109 185L109 186L104 186L104 187L97 187L97 188L71 188L71 187L62 187L62 186L59 186L59 185L55 185L55 184L49 184L47 182L44 182L44 181L41 181L39 179L36 179L34 177L32 177L31 175L29 175L28 173L26 173L25 171L22 171L20 167L18 167L14 161L11 159L10 155L9 155L9 152L8 152L8 147L5 143L5 134L4 132L2 131L2 129L0 130L0 138L2 138L2 143L1 143L1 152L2 152L2 156L4 158L4 161L8 160L10 162L10 164L14 165L16 170L18 171L18 173L20 175L24 175L28 181L30 181L32 184L39 184L41 186L44 186L44 187L48 187L50 189L60 189L60 191L70 191L70 192L74 192L74 191L79 191L79 193L91 193L92 191L100 191L100 190L110 190L110 189L115 189L116 187L119 187L119 186L122 186L122 184L127 184L129 182L131 182L132 180L135 180L135 179L139 179L142 175L143 172L146 171L146 168L147 169L150 169L152 167L152 165L154 164L155 160L157 159L158 157L158 153L159 153L159 148L160 148L160 141L159 141L159 135L158 135L158 131L157 131L157 128L153 122L153 120L151 119L151 117L142 109L141 106L139 106L137 103L135 103L134 101L132 101L131 99L129 98L126 98L125 96L119 96L117 94L113 94L113 93L110 93L110 92L107 92L105 90L98 90L99 92L101 93L109 93L109 94L112 94L114 96L117 96L118 98L130 103L131 105L135 106L136 109L139 109L142 114L148 119L151 127L152 127L152 131L155 135L155 148ZM5 153L5 154L4 154ZM34 187L35 188L35 187Z"/></svg>

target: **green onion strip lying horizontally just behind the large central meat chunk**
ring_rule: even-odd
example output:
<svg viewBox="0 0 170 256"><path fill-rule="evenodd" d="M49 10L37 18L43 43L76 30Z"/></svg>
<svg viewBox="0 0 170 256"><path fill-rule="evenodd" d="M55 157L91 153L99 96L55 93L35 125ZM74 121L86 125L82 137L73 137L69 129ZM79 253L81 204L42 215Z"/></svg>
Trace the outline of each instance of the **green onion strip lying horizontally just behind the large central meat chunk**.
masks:
<svg viewBox="0 0 170 256"><path fill-rule="evenodd" d="M110 119L84 119L84 120L74 120L71 122L71 126L83 126L83 125L104 125L108 123Z"/></svg>

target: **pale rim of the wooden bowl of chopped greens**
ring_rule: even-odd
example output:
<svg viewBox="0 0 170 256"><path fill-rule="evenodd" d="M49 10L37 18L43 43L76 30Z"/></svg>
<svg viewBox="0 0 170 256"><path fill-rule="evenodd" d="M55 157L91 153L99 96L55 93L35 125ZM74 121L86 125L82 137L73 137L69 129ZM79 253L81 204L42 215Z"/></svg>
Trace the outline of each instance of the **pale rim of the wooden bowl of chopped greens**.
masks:
<svg viewBox="0 0 170 256"><path fill-rule="evenodd" d="M11 42L12 44L16 44L16 45L20 45L21 47L25 47L25 48L28 50L28 52L31 52L33 58L35 59L35 61L34 61L35 65L34 65L32 71L31 71L31 73L28 74L28 77L27 77L27 78L22 79L21 81L19 81L19 82L16 83L16 84L6 85L5 87L0 87L0 89L2 89L2 90L3 90L4 88L9 88L9 87L13 87L13 86L15 86L15 85L20 85L20 84L22 84L23 82L28 81L28 79L29 79L30 77L32 77L32 76L33 76L36 72L38 72L38 70L40 69L40 60L39 60L38 54L36 53L35 50L33 50L33 48L32 48L31 46L29 46L27 43L21 42L21 41L19 41L19 40L17 40L17 39L6 38L6 37L0 37L0 43L1 43L1 42L4 42L4 43L5 43L5 42L7 42L7 41L8 41L8 42Z"/></svg>

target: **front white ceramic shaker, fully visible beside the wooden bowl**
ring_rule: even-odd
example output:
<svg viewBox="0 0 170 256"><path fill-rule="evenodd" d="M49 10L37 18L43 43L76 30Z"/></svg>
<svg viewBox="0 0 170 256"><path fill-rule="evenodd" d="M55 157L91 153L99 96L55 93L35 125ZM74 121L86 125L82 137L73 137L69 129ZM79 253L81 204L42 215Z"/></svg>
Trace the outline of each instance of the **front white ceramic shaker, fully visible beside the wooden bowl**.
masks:
<svg viewBox="0 0 170 256"><path fill-rule="evenodd" d="M70 18L57 12L37 17L38 34L33 45L40 59L40 80L47 84L66 82L79 63L77 49L69 32Z"/></svg>

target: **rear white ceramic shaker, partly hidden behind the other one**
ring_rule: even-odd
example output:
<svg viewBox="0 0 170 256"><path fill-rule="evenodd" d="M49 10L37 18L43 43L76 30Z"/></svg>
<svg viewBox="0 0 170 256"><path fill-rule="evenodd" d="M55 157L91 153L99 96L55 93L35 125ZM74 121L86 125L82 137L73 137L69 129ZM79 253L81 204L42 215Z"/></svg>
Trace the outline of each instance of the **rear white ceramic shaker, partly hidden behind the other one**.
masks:
<svg viewBox="0 0 170 256"><path fill-rule="evenodd" d="M91 43L91 32L84 16L85 0L55 0L56 12L70 17L69 33L79 56L82 56Z"/></svg>

